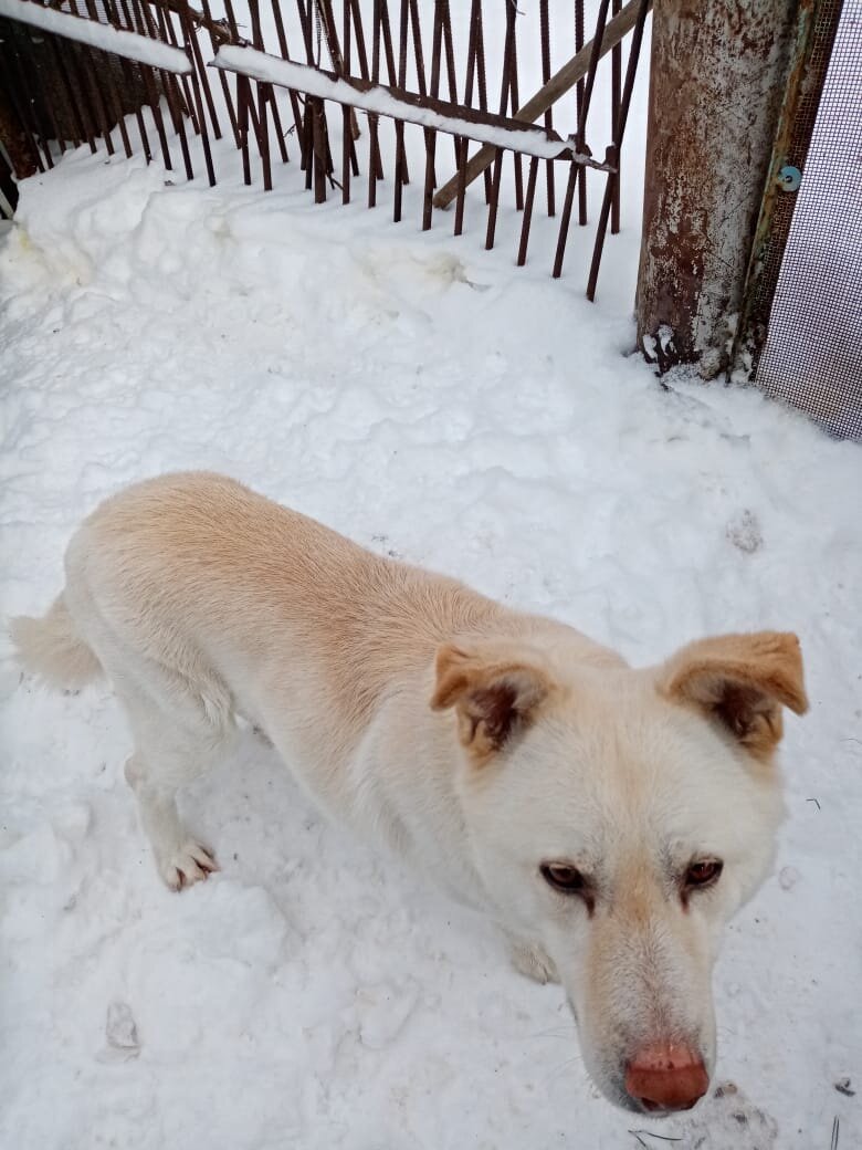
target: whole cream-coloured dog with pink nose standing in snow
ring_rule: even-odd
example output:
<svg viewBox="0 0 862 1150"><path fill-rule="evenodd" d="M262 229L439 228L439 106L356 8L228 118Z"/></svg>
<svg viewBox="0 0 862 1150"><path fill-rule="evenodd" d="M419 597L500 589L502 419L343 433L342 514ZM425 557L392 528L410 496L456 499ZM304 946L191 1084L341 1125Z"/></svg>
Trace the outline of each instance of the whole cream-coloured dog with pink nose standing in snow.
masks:
<svg viewBox="0 0 862 1150"><path fill-rule="evenodd" d="M107 500L66 573L14 638L54 684L109 676L169 887L216 869L176 791L245 716L332 818L492 915L519 969L561 979L608 1098L701 1097L722 927L772 859L782 707L807 707L795 636L634 670L203 473Z"/></svg>

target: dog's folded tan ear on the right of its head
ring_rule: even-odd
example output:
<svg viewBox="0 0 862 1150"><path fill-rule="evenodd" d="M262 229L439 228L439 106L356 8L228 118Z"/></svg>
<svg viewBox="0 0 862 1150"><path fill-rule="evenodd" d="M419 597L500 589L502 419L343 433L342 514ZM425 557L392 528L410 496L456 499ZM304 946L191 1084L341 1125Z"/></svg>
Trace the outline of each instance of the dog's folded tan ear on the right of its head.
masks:
<svg viewBox="0 0 862 1150"><path fill-rule="evenodd" d="M760 758L782 737L782 706L808 710L799 639L779 631L692 643L662 667L659 690L718 719Z"/></svg>

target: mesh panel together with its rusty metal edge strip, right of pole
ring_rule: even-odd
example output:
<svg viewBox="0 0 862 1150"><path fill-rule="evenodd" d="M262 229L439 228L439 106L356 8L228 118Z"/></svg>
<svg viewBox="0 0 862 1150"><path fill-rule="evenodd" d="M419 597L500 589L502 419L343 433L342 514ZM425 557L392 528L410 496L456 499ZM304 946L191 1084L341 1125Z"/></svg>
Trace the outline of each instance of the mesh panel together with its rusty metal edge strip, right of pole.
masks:
<svg viewBox="0 0 862 1150"><path fill-rule="evenodd" d="M862 0L802 14L737 362L832 435L862 438Z"/></svg>

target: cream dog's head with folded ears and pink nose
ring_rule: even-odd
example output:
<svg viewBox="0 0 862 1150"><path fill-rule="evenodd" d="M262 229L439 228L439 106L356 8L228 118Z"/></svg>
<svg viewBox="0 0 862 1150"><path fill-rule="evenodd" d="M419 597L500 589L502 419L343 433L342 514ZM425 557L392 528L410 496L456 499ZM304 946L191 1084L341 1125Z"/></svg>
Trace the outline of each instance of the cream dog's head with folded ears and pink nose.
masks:
<svg viewBox="0 0 862 1150"><path fill-rule="evenodd" d="M782 708L807 708L794 635L705 639L660 667L565 645L438 653L485 887L544 943L613 1102L686 1109L715 1063L722 928L764 879L783 814Z"/></svg>

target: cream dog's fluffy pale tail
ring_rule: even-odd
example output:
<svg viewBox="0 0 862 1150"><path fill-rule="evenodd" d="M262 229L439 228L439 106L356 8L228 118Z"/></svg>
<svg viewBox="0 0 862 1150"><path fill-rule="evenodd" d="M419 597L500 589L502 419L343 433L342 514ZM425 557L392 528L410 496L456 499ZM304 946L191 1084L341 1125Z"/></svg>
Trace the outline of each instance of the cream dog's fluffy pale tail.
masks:
<svg viewBox="0 0 862 1150"><path fill-rule="evenodd" d="M102 667L75 629L66 599L57 596L41 619L18 615L9 626L17 657L25 670L48 687L74 689L97 678Z"/></svg>

